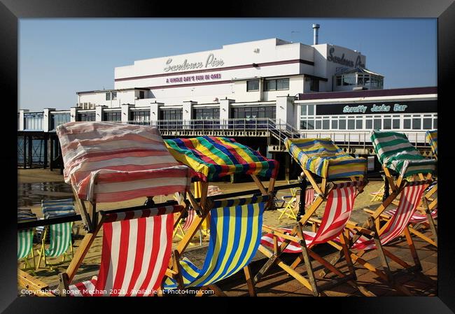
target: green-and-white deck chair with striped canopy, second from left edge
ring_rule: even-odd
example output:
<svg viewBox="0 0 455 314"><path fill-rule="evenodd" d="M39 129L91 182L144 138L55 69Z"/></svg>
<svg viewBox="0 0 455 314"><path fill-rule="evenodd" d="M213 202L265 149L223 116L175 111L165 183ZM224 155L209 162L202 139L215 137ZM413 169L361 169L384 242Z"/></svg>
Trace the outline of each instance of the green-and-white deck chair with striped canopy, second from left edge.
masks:
<svg viewBox="0 0 455 314"><path fill-rule="evenodd" d="M76 215L74 210L73 199L58 199L42 201L43 216L45 219L52 217L61 217L66 215ZM47 257L62 256L62 262L69 255L66 251L71 250L73 256L73 244L71 239L72 222L63 222L61 224L51 224L48 229L45 229L44 236L41 239L41 250L38 251L39 259L36 269L41 264L41 259L44 259L45 266L55 266L57 264L48 264ZM49 248L45 248L46 234L49 233Z"/></svg>

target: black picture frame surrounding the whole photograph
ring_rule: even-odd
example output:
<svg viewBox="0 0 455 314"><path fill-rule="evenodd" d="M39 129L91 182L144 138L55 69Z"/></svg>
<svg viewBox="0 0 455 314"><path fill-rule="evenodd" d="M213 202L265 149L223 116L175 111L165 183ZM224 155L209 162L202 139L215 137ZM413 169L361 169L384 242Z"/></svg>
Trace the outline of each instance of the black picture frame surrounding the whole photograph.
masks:
<svg viewBox="0 0 455 314"><path fill-rule="evenodd" d="M209 8L207 13L204 9ZM18 99L18 19L20 18L49 18L49 17L346 17L346 18L409 18L430 17L437 18L437 90L438 90L438 136L440 141L439 162L444 166L444 171L438 171L440 186L440 201L444 210L440 210L438 222L438 287L437 297L378 297L378 298L288 298L286 301L273 298L248 299L255 305L281 306L282 310L295 309L300 306L311 311L318 308L333 306L332 311L342 309L348 313L454 313L455 311L455 271L454 234L452 231L452 218L450 211L451 186L450 176L451 160L454 153L450 145L449 117L450 107L453 105L451 93L451 76L455 69L455 3L451 0L307 0L307 1L225 1L225 2L198 2L179 4L170 1L126 1L126 0L101 0L101 1L71 1L71 0L1 0L0 2L0 77L1 90L10 101L3 103L6 115L3 122L17 121L8 116L13 113ZM349 30L348 30L349 31ZM397 52L400 53L400 52ZM404 53L404 52L403 52ZM9 124L9 123L8 123ZM16 257L16 217L17 206L13 195L17 195L18 173L15 170L17 163L17 141L10 135L15 122L4 129L3 154L0 159L3 176L3 210L1 212L1 237L0 237L0 311L4 313L94 313L104 311L99 306L105 306L105 298L89 298L83 301L80 298L34 298L17 296L17 262ZM11 128L11 129L10 129ZM8 131L6 131L8 130ZM447 170L447 171L445 171ZM446 183L444 183L446 182ZM11 206L6 206L10 204ZM115 298L116 299L116 298ZM239 299L231 298L227 301L226 309L236 311L234 304ZM188 304L193 304L191 299L184 299L176 304L173 298L160 300L139 298L118 298L109 301L116 310L125 308L134 313L149 311L186 311ZM181 299L180 299L181 300ZM190 308L197 311L218 311L224 309L221 303L225 299L205 298L212 301L215 308ZM133 303L134 302L134 303ZM141 304L139 304L139 303ZM161 305L163 304L165 308ZM103 305L102 305L103 304ZM167 305L166 305L167 304ZM166 306L173 306L167 309ZM202 306L200 301L197 307ZM251 311L251 308L245 308Z"/></svg>

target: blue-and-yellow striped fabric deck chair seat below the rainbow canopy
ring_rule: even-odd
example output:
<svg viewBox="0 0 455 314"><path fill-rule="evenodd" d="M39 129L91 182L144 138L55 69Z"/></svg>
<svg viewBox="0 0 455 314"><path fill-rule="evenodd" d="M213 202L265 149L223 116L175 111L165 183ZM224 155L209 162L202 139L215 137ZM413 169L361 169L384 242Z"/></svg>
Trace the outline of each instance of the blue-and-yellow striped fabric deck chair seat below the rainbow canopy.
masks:
<svg viewBox="0 0 455 314"><path fill-rule="evenodd" d="M249 263L258 251L262 233L262 214L268 196L249 199L214 201L210 211L210 241L201 269L189 259L180 261L183 287L211 289L224 295L214 284L244 269L248 290L254 295ZM164 289L177 288L175 280L167 278Z"/></svg>

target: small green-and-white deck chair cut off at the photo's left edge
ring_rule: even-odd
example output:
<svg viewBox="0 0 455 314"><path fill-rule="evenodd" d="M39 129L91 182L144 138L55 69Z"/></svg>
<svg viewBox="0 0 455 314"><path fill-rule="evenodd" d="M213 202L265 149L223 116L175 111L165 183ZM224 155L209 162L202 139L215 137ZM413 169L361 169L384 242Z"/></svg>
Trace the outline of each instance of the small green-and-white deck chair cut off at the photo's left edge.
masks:
<svg viewBox="0 0 455 314"><path fill-rule="evenodd" d="M31 213L30 208L18 209L18 222L29 222L36 220L36 214ZM33 229L18 230L18 261L24 262L23 270L35 269L35 255L33 251ZM29 262L29 255L31 253L31 260L33 266Z"/></svg>

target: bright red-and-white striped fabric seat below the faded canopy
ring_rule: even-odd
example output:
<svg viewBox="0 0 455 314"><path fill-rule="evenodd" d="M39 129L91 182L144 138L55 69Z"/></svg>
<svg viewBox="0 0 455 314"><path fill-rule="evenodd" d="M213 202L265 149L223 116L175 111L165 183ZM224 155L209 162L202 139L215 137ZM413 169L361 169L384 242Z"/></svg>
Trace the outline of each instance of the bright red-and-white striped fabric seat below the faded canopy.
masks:
<svg viewBox="0 0 455 314"><path fill-rule="evenodd" d="M74 297L147 297L158 292L172 255L174 213L181 205L102 212L97 276L68 285Z"/></svg>

